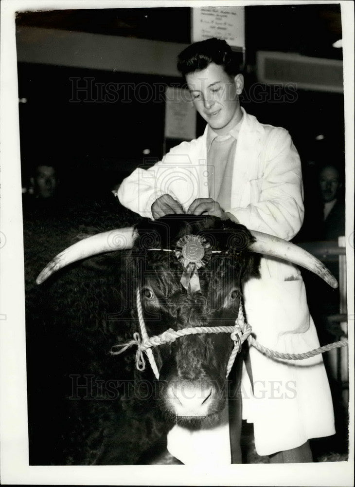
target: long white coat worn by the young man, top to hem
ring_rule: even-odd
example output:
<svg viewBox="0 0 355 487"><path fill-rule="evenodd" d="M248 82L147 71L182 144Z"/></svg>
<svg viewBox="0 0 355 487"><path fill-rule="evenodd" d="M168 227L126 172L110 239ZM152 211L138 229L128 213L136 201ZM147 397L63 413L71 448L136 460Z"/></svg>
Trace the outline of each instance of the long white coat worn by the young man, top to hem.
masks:
<svg viewBox="0 0 355 487"><path fill-rule="evenodd" d="M231 206L224 209L231 213L233 220L251 230L290 240L300 230L304 212L298 152L286 130L261 124L242 111L231 181ZM207 128L198 139L170 150L155 166L136 169L119 188L120 202L152 218L151 205L162 194L173 196L185 210L196 198L208 198L206 140ZM317 348L319 341L300 271L270 258L262 258L260 270L261 279L252 279L244 286L248 322L256 339L279 352L301 353ZM254 393L243 370L243 418L254 423L259 455L296 448L310 438L335 433L332 400L321 356L289 364L271 360L251 347L250 360ZM205 433L207 437L210 434ZM201 434L200 441L198 434L191 435L183 428L174 427L169 450L184 463L230 463L225 453L219 460L215 451L209 455L206 434ZM224 435L225 444L229 441L228 426L222 426L218 434ZM205 451L203 455L201 447ZM226 448L219 450L225 452Z"/></svg>

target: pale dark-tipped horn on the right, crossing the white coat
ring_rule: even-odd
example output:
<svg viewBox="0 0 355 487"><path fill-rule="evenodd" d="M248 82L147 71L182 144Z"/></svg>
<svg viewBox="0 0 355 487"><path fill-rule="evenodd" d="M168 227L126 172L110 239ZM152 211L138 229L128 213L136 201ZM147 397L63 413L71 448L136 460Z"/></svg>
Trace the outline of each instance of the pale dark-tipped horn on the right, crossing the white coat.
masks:
<svg viewBox="0 0 355 487"><path fill-rule="evenodd" d="M252 252L277 257L278 259L300 265L317 274L334 289L338 287L336 278L328 271L325 265L306 250L267 233L254 230L250 230L250 233L256 238L256 242L249 246Z"/></svg>

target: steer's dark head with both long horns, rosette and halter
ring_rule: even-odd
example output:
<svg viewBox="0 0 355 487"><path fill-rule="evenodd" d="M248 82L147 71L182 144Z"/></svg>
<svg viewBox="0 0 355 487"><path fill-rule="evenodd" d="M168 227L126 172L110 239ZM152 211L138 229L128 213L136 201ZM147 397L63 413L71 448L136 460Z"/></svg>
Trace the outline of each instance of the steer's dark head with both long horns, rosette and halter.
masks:
<svg viewBox="0 0 355 487"><path fill-rule="evenodd" d="M137 364L143 368L145 350L159 378L160 407L177 423L218 421L225 409L226 377L233 352L241 349L241 333L231 330L241 332L236 325L245 318L243 284L258 277L258 254L301 265L337 286L323 264L296 245L230 220L192 215L165 216L89 237L58 254L37 283L71 262L127 248L133 270L127 285L134 282L137 289L143 339L135 341L141 347ZM220 327L228 333L220 333ZM192 328L199 332L193 334ZM186 329L187 335L161 338L167 330ZM142 347L151 337L160 344ZM246 350L244 356L248 365Z"/></svg>

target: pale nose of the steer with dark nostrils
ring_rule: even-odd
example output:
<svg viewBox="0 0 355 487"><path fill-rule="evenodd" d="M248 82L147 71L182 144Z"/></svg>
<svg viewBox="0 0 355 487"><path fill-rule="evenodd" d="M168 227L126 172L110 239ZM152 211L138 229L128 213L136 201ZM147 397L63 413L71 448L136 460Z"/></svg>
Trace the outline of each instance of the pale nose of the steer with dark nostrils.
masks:
<svg viewBox="0 0 355 487"><path fill-rule="evenodd" d="M168 401L177 416L206 416L214 395L211 382L175 382L167 389Z"/></svg>

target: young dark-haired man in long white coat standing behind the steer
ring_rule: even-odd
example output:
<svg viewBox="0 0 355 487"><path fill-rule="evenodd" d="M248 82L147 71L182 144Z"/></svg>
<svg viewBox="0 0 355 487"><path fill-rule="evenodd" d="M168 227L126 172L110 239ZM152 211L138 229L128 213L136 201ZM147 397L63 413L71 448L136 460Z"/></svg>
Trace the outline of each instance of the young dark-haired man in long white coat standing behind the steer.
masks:
<svg viewBox="0 0 355 487"><path fill-rule="evenodd" d="M179 55L178 69L206 130L173 148L154 167L136 169L118 191L121 203L148 218L210 214L292 239L302 225L303 201L300 158L289 133L259 123L240 107L243 76L225 41L192 44ZM299 270L266 258L260 269L261 279L244 287L248 322L257 339L280 352L319 346ZM289 365L251 348L250 361L254 391L244 370L243 418L254 423L257 453L270 455L273 462L312 461L308 439L335 433L321 356ZM183 463L230 463L228 454L216 460L216 450L226 448L206 448L205 433L174 427L168 450ZM217 436L212 434L215 447ZM223 426L218 438L229 441Z"/></svg>

